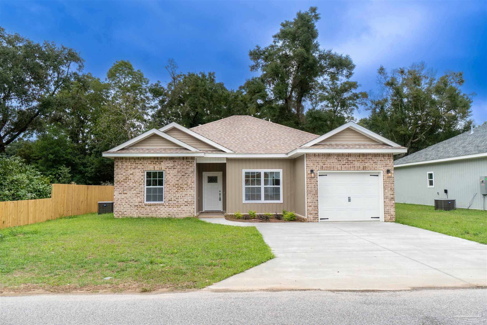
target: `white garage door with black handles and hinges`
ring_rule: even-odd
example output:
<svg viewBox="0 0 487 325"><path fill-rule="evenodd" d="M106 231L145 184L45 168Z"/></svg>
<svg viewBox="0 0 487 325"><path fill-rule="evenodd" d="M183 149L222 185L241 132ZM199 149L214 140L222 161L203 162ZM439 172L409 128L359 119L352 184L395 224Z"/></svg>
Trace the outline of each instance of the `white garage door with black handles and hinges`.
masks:
<svg viewBox="0 0 487 325"><path fill-rule="evenodd" d="M378 221L378 172L319 172L319 221Z"/></svg>

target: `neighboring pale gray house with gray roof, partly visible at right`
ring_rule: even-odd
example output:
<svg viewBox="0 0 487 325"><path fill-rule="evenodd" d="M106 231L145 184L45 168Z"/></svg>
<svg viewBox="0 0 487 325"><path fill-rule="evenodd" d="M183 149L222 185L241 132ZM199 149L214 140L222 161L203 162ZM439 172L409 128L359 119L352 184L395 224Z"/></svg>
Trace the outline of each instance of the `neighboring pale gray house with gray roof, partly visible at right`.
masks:
<svg viewBox="0 0 487 325"><path fill-rule="evenodd" d="M457 208L487 209L487 125L394 161L395 201L434 205L455 199Z"/></svg>

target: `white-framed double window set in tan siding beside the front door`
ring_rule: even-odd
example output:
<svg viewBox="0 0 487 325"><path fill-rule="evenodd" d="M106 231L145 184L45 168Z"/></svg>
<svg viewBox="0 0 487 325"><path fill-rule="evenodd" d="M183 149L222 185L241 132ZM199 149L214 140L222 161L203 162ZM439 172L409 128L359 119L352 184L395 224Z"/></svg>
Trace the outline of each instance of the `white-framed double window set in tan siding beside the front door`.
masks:
<svg viewBox="0 0 487 325"><path fill-rule="evenodd" d="M242 187L244 203L282 203L282 170L243 170Z"/></svg>

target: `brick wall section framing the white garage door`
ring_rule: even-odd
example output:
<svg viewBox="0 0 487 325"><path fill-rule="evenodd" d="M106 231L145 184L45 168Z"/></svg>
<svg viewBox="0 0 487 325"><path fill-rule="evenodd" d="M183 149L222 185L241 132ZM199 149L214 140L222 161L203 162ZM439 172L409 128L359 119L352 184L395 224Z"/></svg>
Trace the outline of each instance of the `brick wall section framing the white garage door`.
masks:
<svg viewBox="0 0 487 325"><path fill-rule="evenodd" d="M306 153L306 209L310 222L318 222L318 177L311 178L310 170L318 171L382 171L384 193L384 221L395 220L394 177L386 170L394 170L392 153ZM394 173L393 173L394 176Z"/></svg>

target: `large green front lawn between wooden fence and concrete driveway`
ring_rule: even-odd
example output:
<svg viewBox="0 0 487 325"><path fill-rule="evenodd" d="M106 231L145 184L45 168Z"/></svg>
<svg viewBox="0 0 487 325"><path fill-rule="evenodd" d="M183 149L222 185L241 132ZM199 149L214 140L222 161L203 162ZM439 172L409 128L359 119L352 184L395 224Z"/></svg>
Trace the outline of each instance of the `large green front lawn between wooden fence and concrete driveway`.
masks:
<svg viewBox="0 0 487 325"><path fill-rule="evenodd" d="M274 257L255 227L196 218L90 213L0 234L0 291L202 288Z"/></svg>

